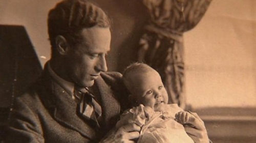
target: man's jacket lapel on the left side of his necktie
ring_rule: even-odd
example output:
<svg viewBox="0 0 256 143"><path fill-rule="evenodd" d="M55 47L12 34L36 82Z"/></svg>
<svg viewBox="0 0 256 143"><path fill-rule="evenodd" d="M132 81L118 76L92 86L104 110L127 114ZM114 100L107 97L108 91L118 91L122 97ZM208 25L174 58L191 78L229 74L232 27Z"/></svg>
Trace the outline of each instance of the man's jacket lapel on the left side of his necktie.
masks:
<svg viewBox="0 0 256 143"><path fill-rule="evenodd" d="M76 102L60 85L53 81L47 71L45 71L43 82L50 91L49 94L46 94L44 100L49 111L53 111L53 119L89 139L97 138L95 129L77 116Z"/></svg>

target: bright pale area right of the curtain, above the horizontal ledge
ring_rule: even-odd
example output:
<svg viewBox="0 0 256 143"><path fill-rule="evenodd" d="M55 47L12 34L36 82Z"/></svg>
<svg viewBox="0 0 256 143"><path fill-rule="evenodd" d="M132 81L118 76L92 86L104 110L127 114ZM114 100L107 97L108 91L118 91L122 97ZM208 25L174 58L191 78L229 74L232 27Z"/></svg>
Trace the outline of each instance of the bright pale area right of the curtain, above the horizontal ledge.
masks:
<svg viewBox="0 0 256 143"><path fill-rule="evenodd" d="M187 102L256 106L256 2L212 1L185 34Z"/></svg>

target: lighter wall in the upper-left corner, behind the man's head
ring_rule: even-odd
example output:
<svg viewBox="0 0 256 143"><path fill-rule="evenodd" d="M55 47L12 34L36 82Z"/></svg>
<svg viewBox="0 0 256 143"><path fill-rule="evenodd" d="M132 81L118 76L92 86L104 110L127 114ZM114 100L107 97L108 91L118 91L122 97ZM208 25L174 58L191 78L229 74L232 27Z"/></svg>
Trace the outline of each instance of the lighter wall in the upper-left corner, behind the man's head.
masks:
<svg viewBox="0 0 256 143"><path fill-rule="evenodd" d="M42 65L50 58L47 13L57 0L0 0L0 24L24 25Z"/></svg>

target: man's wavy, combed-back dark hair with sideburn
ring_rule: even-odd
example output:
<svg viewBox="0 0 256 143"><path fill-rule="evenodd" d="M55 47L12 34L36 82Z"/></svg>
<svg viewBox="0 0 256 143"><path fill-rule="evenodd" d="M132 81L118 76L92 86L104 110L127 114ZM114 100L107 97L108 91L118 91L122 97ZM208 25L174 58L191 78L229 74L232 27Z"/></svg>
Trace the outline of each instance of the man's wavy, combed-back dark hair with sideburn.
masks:
<svg viewBox="0 0 256 143"><path fill-rule="evenodd" d="M69 44L81 42L83 28L110 27L110 19L99 7L83 0L64 0L48 14L48 34L52 56L56 52L55 38L61 35Z"/></svg>

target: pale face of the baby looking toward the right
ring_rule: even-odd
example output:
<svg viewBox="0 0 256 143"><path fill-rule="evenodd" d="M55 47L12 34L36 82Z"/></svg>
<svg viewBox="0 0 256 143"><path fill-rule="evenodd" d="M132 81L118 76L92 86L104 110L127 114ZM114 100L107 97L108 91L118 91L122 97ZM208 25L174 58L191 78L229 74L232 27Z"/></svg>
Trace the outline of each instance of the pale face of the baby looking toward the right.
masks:
<svg viewBox="0 0 256 143"><path fill-rule="evenodd" d="M163 104L167 104L168 95L163 86L160 75L155 70L146 73L137 73L133 79L132 93L138 103L150 106L159 111Z"/></svg>

